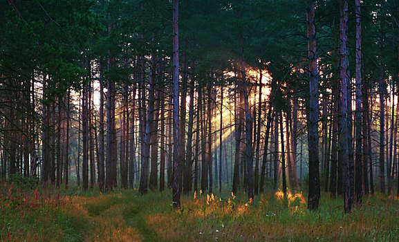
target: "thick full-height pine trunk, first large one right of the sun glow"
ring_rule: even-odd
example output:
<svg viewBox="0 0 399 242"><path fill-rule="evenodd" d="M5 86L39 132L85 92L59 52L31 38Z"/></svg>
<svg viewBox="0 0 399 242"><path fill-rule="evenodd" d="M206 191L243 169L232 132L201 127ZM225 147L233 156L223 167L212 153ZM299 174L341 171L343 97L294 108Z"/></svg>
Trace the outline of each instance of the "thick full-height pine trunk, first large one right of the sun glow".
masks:
<svg viewBox="0 0 399 242"><path fill-rule="evenodd" d="M308 118L308 153L309 153L309 193L308 209L317 210L320 198L319 181L319 136L317 133L319 120L319 91L316 55L315 1L308 2L308 58L309 58L309 118Z"/></svg>

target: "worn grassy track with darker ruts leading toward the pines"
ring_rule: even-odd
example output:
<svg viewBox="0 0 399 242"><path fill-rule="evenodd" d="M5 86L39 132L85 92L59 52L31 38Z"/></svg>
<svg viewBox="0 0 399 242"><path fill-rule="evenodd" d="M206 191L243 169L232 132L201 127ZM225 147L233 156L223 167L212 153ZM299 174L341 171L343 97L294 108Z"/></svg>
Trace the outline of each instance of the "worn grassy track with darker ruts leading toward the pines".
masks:
<svg viewBox="0 0 399 242"><path fill-rule="evenodd" d="M146 218L151 206L159 207L160 204L154 203L154 198L148 199L143 200L136 192L76 196L73 203L81 206L89 218L84 240L159 241L156 232L147 225Z"/></svg>

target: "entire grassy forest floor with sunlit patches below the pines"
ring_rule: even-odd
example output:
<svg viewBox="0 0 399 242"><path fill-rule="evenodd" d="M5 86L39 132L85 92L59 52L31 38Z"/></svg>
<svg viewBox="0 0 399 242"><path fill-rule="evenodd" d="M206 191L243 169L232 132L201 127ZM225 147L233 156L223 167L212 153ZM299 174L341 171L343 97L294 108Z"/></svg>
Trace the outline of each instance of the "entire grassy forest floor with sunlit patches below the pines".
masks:
<svg viewBox="0 0 399 242"><path fill-rule="evenodd" d="M171 192L0 185L0 241L398 241L398 198L375 194L344 214L322 194L319 210L301 192L190 194L173 210Z"/></svg>

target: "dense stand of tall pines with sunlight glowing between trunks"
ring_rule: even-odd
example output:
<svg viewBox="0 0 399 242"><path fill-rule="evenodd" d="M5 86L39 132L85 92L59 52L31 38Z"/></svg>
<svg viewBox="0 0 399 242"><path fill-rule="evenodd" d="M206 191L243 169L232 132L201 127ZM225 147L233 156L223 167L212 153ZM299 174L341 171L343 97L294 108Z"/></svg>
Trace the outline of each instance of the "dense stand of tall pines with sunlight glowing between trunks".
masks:
<svg viewBox="0 0 399 242"><path fill-rule="evenodd" d="M176 207L180 192L288 187L316 209L324 190L350 212L398 178L398 15L373 0L1 1L0 177L173 188Z"/></svg>

